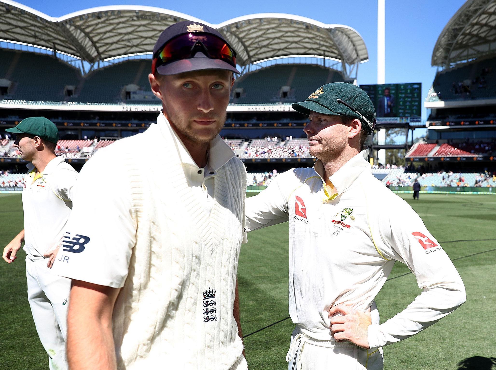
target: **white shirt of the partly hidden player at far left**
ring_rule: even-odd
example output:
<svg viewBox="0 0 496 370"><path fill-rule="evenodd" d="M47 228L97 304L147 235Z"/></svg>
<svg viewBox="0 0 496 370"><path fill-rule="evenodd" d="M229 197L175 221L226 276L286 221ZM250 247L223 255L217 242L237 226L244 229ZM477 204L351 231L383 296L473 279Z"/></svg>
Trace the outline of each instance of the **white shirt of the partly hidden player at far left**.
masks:
<svg viewBox="0 0 496 370"><path fill-rule="evenodd" d="M42 257L56 248L72 208L72 189L77 171L64 157L48 162L36 175L32 163L24 178L22 207L24 210L24 251L31 257Z"/></svg>

